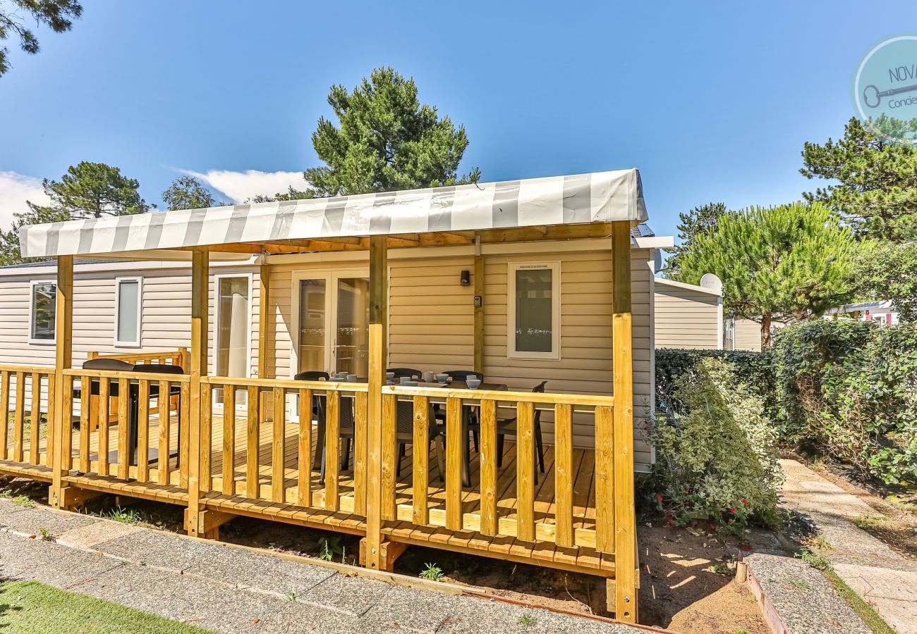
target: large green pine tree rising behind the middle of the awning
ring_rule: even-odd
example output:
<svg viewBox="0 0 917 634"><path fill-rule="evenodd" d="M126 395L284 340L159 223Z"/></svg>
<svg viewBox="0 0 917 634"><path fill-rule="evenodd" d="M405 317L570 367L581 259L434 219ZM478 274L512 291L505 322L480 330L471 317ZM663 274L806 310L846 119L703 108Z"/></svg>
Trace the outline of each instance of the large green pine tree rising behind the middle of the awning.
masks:
<svg viewBox="0 0 917 634"><path fill-rule="evenodd" d="M322 117L312 143L324 167L306 169L305 191L291 188L255 202L395 191L476 182L480 169L459 177L468 135L436 106L421 104L413 79L375 69L348 91L333 86L328 104L337 125Z"/></svg>

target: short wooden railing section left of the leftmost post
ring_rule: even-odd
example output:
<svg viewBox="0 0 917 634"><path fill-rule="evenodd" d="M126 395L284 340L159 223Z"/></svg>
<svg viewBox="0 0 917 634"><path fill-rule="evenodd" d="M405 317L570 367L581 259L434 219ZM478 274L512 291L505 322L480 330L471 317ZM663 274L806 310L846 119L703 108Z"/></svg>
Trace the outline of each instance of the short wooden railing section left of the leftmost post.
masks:
<svg viewBox="0 0 917 634"><path fill-rule="evenodd" d="M48 421L53 414L53 376L52 367L0 366L0 416L3 417L0 460L22 465L50 465L48 446L51 443L42 443L42 440L50 437Z"/></svg>

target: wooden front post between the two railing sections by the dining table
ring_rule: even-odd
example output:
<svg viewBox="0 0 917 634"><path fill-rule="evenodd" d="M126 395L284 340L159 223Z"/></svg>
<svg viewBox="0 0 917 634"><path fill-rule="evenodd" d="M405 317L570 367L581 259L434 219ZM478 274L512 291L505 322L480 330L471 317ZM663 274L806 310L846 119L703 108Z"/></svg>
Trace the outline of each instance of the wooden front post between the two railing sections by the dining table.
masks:
<svg viewBox="0 0 917 634"><path fill-rule="evenodd" d="M366 565L380 570L382 542L382 386L388 358L388 246L384 235L370 236L370 385L368 392Z"/></svg>

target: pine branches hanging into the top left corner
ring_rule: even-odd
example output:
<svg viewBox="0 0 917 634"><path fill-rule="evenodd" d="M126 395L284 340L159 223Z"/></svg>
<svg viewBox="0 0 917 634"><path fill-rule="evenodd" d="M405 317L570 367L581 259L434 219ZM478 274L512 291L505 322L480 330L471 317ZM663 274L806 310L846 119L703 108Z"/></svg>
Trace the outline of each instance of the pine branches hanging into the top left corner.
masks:
<svg viewBox="0 0 917 634"><path fill-rule="evenodd" d="M0 41L18 36L19 46L32 55L39 52L39 40L26 26L27 19L63 33L71 29L73 20L83 15L83 5L77 0L10 0L10 3L12 7L0 4ZM9 49L0 47L0 76L9 71L8 55Z"/></svg>

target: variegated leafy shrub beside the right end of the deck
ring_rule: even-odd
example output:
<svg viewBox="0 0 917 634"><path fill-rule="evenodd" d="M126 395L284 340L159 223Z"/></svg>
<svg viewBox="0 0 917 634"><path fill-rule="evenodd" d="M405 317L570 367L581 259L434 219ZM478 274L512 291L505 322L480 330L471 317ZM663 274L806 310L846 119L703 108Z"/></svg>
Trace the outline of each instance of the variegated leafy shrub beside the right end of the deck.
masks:
<svg viewBox="0 0 917 634"><path fill-rule="evenodd" d="M671 394L679 407L657 412L653 431L657 508L679 525L704 519L739 532L752 519L775 524L783 475L762 399L735 366L710 356L676 378Z"/></svg>

